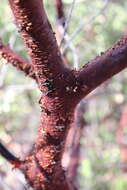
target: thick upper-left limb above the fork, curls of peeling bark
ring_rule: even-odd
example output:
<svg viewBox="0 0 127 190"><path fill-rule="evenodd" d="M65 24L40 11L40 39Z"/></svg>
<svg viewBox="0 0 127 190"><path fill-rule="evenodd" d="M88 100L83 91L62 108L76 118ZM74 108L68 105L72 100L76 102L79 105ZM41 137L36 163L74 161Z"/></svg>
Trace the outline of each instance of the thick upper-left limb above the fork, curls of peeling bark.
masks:
<svg viewBox="0 0 127 190"><path fill-rule="evenodd" d="M9 3L17 26L28 47L40 84L40 90L46 91L44 82L47 80L57 89L62 89L62 78L68 75L68 70L63 64L55 35L47 19L42 1L9 0ZM53 95L53 92L50 92L50 94Z"/></svg>

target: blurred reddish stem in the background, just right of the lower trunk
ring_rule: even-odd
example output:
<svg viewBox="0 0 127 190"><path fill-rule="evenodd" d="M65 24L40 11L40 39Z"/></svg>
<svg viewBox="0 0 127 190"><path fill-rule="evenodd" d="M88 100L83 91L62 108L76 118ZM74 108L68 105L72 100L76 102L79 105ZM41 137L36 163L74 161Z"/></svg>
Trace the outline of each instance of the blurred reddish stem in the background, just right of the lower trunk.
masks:
<svg viewBox="0 0 127 190"><path fill-rule="evenodd" d="M72 142L71 142L71 160L67 169L67 177L71 182L74 182L76 186L77 184L77 176L78 176L78 166L80 164L80 150L81 144L80 140L83 135L84 127L87 122L84 118L84 114L86 111L86 103L82 100L76 110L75 113L75 123L72 131Z"/></svg>

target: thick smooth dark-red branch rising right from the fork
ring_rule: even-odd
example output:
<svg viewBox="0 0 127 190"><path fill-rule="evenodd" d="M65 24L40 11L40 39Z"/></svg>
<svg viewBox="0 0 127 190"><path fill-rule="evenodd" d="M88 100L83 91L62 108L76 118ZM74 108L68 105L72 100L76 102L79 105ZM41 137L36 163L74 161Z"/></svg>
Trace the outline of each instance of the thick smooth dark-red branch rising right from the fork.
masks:
<svg viewBox="0 0 127 190"><path fill-rule="evenodd" d="M81 84L80 97L84 97L103 82L127 67L127 37L119 40L112 48L102 52L78 71Z"/></svg>

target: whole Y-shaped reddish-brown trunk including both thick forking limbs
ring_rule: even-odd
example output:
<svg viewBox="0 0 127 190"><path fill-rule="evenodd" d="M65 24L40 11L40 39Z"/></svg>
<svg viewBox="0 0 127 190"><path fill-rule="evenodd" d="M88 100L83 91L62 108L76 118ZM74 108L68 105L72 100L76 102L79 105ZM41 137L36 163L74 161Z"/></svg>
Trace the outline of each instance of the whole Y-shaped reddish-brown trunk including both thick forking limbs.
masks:
<svg viewBox="0 0 127 190"><path fill-rule="evenodd" d="M122 39L80 71L65 67L41 0L9 0L29 51L41 91L41 121L35 146L19 169L34 190L71 190L61 166L76 105L89 92L127 66Z"/></svg>

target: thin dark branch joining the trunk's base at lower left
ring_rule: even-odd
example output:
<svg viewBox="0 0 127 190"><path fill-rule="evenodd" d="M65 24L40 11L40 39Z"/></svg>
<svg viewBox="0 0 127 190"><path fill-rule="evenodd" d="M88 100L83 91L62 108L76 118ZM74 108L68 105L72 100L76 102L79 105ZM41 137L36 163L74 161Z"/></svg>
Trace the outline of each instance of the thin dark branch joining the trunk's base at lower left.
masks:
<svg viewBox="0 0 127 190"><path fill-rule="evenodd" d="M10 162L15 168L19 168L22 161L9 152L6 147L0 142L0 154Z"/></svg>

